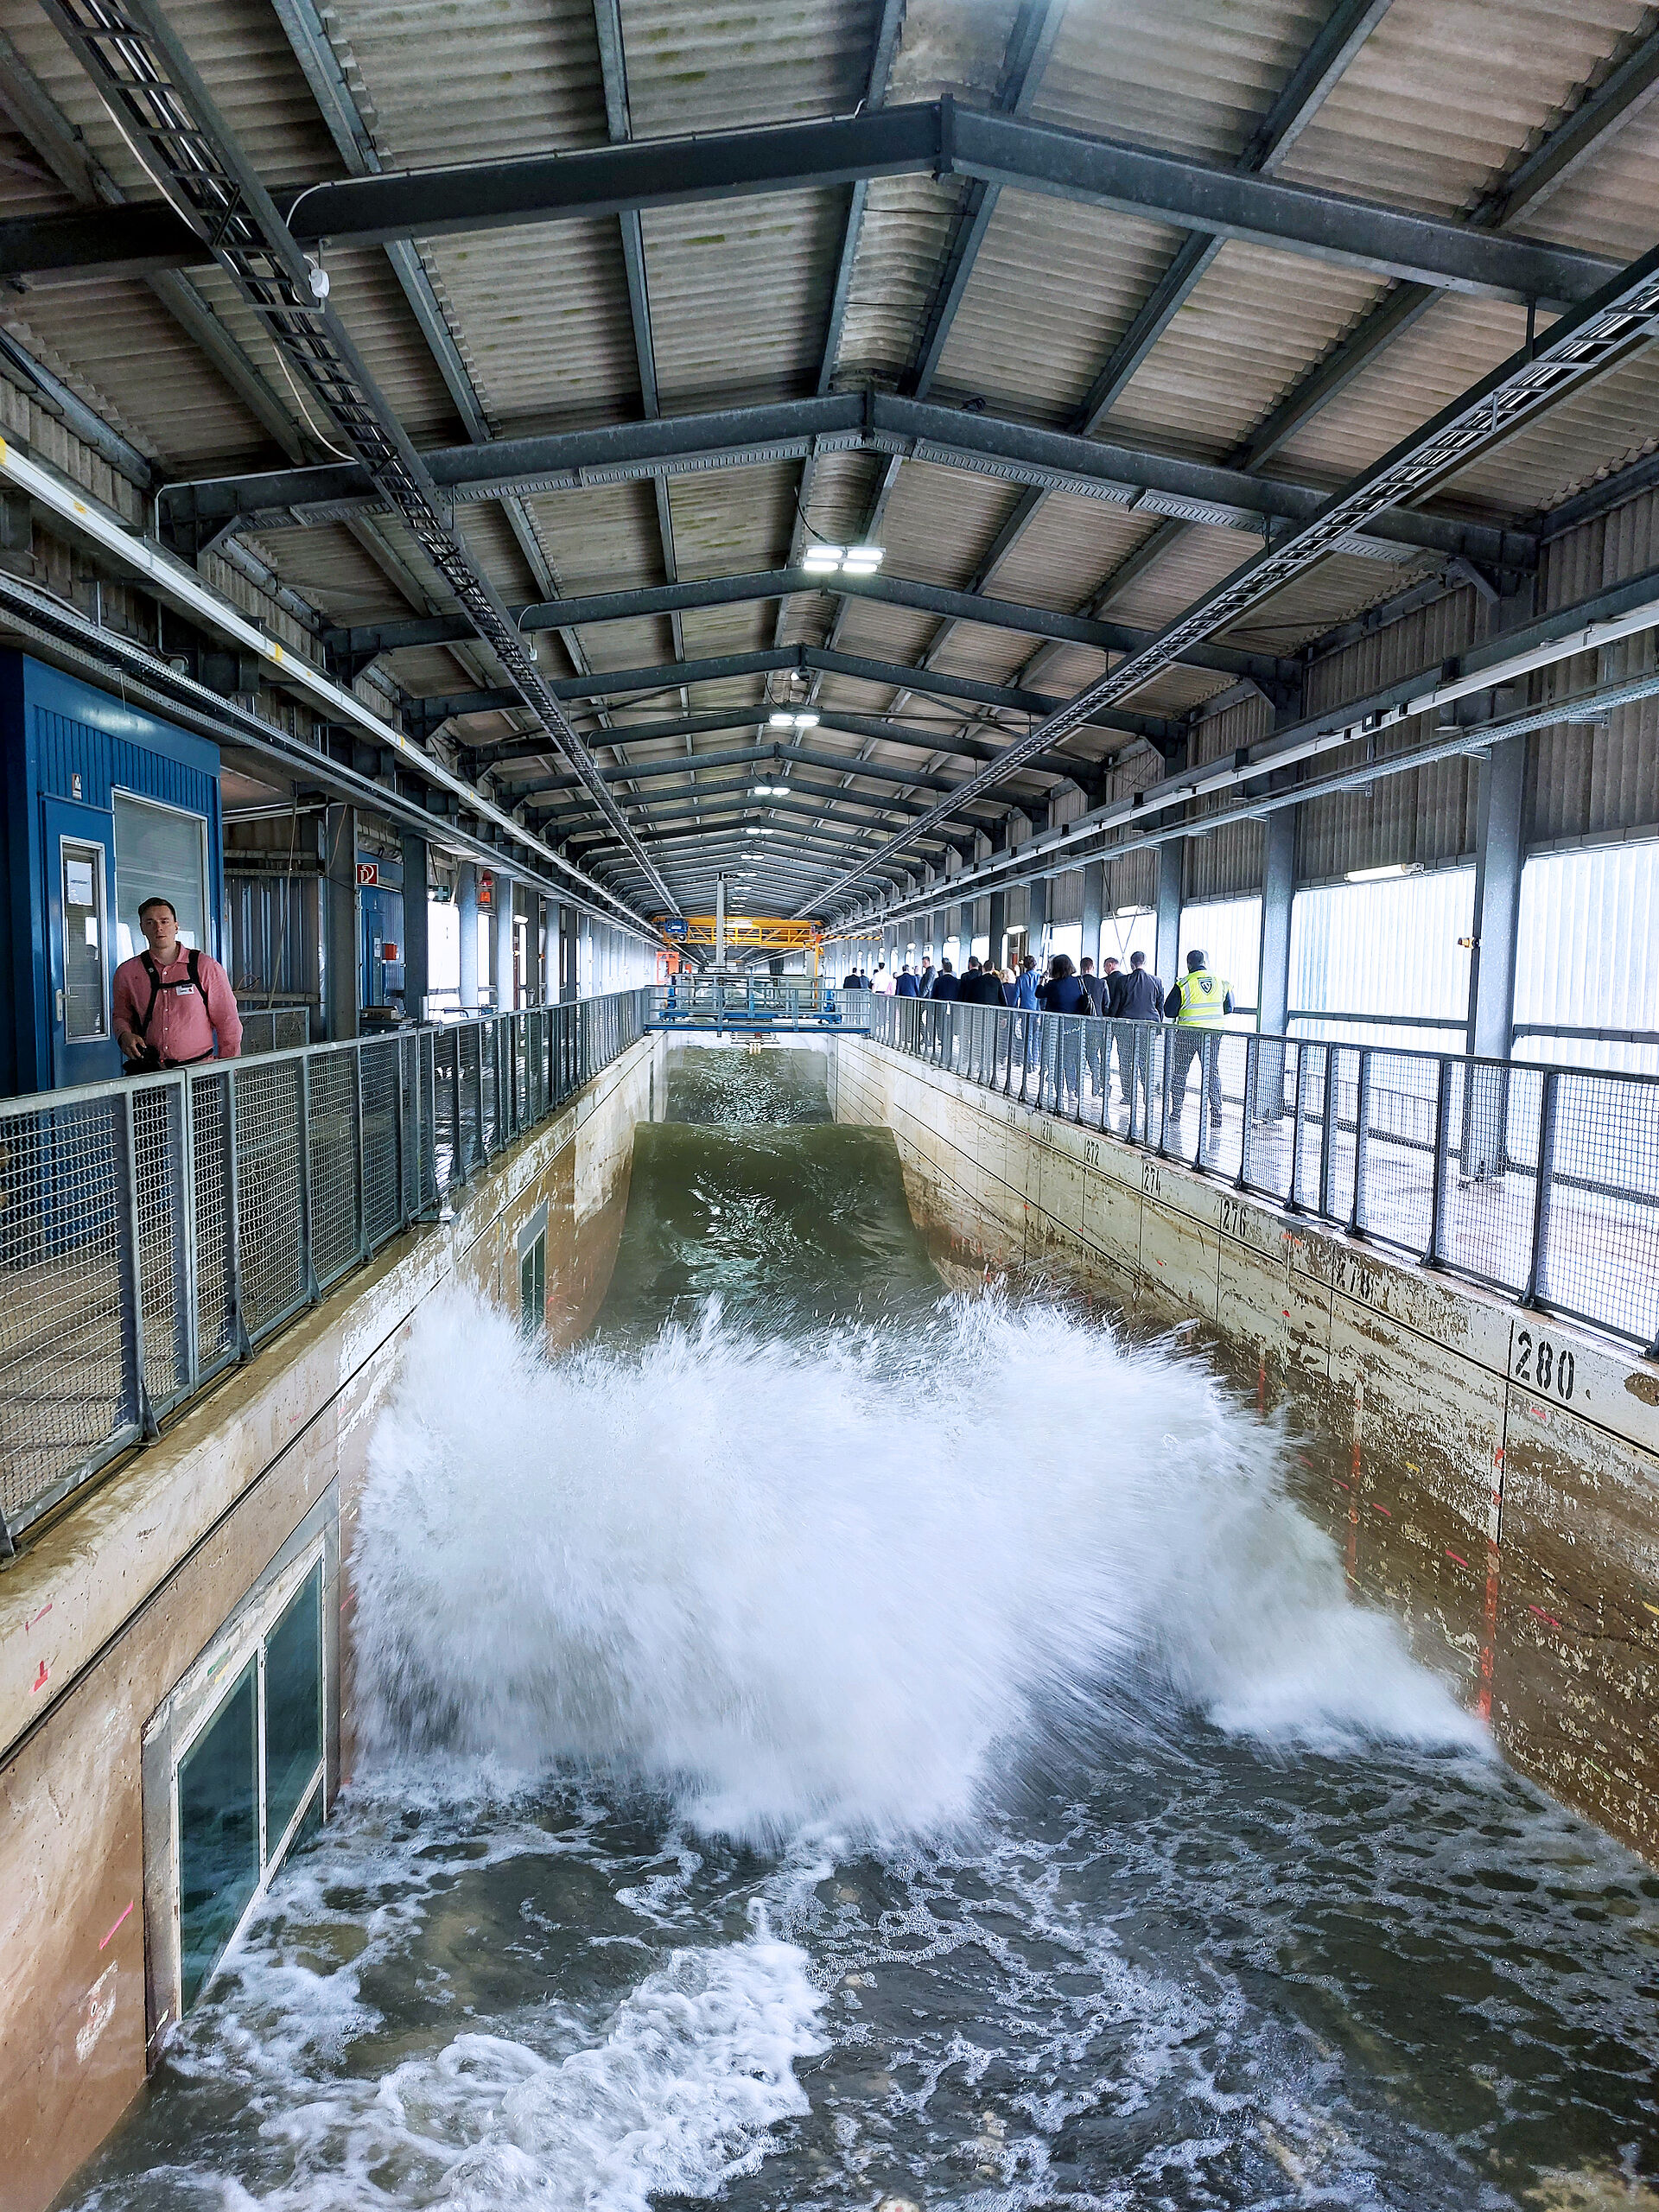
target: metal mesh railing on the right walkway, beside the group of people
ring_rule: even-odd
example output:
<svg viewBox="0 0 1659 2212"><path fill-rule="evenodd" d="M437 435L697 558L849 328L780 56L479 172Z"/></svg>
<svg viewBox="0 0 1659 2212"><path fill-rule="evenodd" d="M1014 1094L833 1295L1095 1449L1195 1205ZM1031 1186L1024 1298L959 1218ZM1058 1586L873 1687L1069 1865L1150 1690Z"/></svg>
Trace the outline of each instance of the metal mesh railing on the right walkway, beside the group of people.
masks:
<svg viewBox="0 0 1659 2212"><path fill-rule="evenodd" d="M874 993L860 1015L964 1082L1659 1358L1659 1077Z"/></svg>

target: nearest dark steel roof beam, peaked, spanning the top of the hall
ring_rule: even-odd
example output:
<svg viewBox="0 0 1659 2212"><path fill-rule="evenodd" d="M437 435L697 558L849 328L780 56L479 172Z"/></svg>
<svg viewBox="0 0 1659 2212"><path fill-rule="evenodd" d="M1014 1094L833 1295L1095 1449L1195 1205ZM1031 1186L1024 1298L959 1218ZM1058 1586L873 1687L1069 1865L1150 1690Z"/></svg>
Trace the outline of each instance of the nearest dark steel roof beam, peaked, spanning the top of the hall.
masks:
<svg viewBox="0 0 1659 2212"><path fill-rule="evenodd" d="M1148 146L964 108L949 97L836 122L347 177L283 195L276 212L283 221L292 217L290 232L301 246L319 239L385 246L896 175L1015 186L1480 299L1582 305L1610 272L1597 254L1480 237L1402 208L1241 177ZM0 223L0 276L100 268L148 274L201 268L206 259L204 241L159 201L100 217L31 215Z"/></svg>

